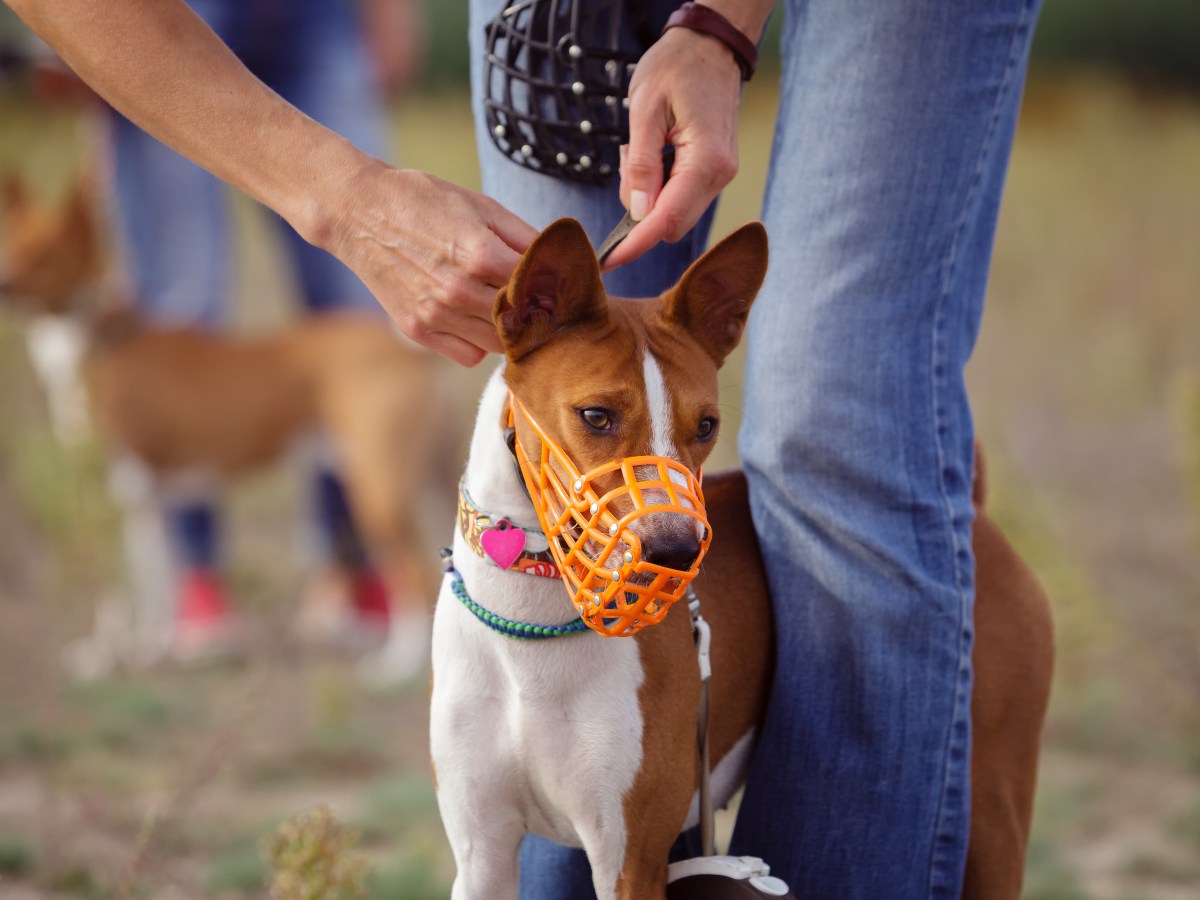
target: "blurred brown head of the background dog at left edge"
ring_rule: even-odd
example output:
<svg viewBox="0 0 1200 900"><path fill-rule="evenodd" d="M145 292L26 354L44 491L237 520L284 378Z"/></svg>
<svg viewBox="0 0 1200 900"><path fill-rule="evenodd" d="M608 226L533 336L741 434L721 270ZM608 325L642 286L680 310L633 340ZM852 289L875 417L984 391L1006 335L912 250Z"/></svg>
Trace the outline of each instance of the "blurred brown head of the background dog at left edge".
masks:
<svg viewBox="0 0 1200 900"><path fill-rule="evenodd" d="M56 206L35 203L18 179L5 180L0 186L5 235L0 300L26 313L72 311L80 289L92 284L102 268L91 208L88 179L80 179Z"/></svg>

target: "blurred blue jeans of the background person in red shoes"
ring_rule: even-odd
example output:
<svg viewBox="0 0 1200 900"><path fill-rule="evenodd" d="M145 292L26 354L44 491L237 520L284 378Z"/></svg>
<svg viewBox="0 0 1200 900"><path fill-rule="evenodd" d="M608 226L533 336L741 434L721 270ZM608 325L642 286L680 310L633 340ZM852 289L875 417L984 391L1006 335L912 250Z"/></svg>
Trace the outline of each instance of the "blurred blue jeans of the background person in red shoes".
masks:
<svg viewBox="0 0 1200 900"><path fill-rule="evenodd" d="M384 155L382 102L349 0L190 2L281 96L362 150ZM160 325L222 326L233 264L228 188L116 113L113 149L116 221L139 308ZM382 313L348 268L272 220L307 311ZM218 528L210 500L175 497L167 505L178 562L214 566ZM341 485L330 473L314 476L313 506L316 556L335 558L349 526Z"/></svg>

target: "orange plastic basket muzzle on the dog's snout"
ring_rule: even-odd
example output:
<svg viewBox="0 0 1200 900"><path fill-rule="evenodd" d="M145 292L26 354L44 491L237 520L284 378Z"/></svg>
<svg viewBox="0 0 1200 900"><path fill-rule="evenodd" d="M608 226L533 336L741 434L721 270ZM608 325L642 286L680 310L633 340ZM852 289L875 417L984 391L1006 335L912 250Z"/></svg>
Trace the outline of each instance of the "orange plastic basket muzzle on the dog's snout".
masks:
<svg viewBox="0 0 1200 900"><path fill-rule="evenodd" d="M517 439L515 454L538 521L546 533L571 602L605 637L635 635L662 620L700 571L713 532L700 478L664 456L631 456L580 473L571 458L509 395L509 425L517 415L541 440L532 460ZM606 478L618 475L616 478ZM608 490L601 482L613 484ZM619 512L624 509L624 512ZM643 558L634 526L647 516L685 516L696 528L698 553L686 570ZM679 523L676 521L674 527Z"/></svg>

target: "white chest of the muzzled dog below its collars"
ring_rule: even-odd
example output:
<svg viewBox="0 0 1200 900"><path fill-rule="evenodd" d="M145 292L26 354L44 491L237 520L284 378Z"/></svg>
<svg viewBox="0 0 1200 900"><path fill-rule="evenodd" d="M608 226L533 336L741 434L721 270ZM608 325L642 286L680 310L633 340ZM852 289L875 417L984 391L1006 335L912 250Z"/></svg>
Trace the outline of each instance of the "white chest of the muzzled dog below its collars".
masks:
<svg viewBox="0 0 1200 900"><path fill-rule="evenodd" d="M466 562L475 568L476 560ZM496 569L479 569L496 580ZM463 575L468 584L480 583ZM563 590L557 581L527 575L504 581L517 589ZM486 606L486 592L476 593ZM506 805L527 830L566 845L598 840L595 823L602 822L600 839L623 847L623 797L642 758L642 680L635 641L590 632L504 637L444 587L434 618L431 718L439 793L480 806L488 818L497 804Z"/></svg>

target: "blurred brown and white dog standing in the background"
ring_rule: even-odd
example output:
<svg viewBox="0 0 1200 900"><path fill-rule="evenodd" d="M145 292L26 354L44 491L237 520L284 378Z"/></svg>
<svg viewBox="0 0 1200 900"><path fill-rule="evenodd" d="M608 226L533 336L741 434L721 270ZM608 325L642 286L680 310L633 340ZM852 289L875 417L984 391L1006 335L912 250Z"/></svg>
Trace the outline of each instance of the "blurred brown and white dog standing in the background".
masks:
<svg viewBox="0 0 1200 900"><path fill-rule="evenodd" d="M80 180L48 208L10 180L0 198L0 298L28 317L55 431L71 442L90 420L113 451L125 511L134 602L102 608L73 664L98 674L164 650L175 584L161 492L238 478L300 445L326 452L328 442L394 602L384 671L422 671L437 590L426 520L452 497L452 476L439 474L456 427L437 358L365 314L313 317L256 337L154 328L104 287L92 192Z"/></svg>

